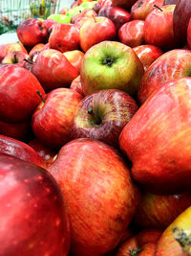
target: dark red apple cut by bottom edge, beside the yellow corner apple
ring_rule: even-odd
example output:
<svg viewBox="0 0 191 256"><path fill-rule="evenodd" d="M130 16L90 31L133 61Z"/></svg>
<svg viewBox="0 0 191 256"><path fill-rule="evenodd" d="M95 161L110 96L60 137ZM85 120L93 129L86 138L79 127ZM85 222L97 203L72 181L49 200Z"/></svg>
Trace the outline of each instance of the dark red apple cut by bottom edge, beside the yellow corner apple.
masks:
<svg viewBox="0 0 191 256"><path fill-rule="evenodd" d="M154 256L161 234L162 231L159 229L143 229L137 235L132 236L121 244L117 249L116 256ZM138 249L138 254L136 254Z"/></svg>

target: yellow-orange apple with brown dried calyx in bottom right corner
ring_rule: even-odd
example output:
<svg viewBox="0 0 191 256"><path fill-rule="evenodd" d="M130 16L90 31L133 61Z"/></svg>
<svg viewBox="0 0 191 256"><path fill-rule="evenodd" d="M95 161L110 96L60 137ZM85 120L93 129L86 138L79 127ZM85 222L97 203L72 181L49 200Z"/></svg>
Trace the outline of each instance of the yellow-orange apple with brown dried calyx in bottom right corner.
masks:
<svg viewBox="0 0 191 256"><path fill-rule="evenodd" d="M191 207L184 210L162 233L156 256L190 255Z"/></svg>

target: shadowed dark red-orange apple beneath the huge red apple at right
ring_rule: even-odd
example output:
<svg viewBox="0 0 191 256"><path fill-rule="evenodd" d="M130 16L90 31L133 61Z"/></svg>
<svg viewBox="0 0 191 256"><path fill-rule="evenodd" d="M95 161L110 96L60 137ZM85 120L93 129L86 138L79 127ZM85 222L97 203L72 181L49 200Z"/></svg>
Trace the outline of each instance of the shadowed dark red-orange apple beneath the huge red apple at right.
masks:
<svg viewBox="0 0 191 256"><path fill-rule="evenodd" d="M139 228L165 229L191 204L191 193L156 195L143 191L134 221Z"/></svg>

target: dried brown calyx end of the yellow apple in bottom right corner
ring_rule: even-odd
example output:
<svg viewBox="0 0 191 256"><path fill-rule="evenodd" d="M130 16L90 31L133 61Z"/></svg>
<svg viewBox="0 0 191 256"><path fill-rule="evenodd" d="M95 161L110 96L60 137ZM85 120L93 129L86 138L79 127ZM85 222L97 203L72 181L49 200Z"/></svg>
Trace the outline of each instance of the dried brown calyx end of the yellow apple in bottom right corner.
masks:
<svg viewBox="0 0 191 256"><path fill-rule="evenodd" d="M186 255L191 256L191 230L183 230L180 227L173 227L173 236L182 247Z"/></svg>

